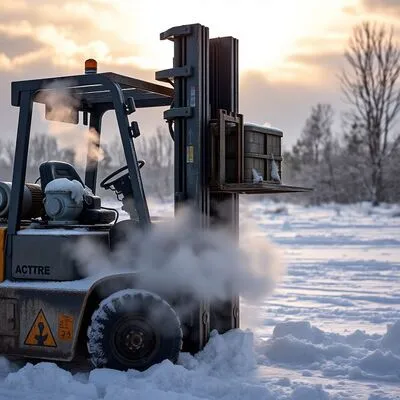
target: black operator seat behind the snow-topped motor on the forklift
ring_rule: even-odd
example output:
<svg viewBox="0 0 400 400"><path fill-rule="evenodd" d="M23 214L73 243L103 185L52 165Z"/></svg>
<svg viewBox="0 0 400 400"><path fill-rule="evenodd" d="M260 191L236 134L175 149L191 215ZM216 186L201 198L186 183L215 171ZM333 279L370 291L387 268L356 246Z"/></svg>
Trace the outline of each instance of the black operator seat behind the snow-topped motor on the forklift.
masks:
<svg viewBox="0 0 400 400"><path fill-rule="evenodd" d="M87 188L76 169L63 161L46 161L39 166L40 183L43 194L47 184L54 179L66 178L76 180ZM88 188L87 188L88 189ZM108 224L115 219L115 212L101 207L101 199L95 196L90 189L86 190L83 201L83 210L79 222L82 224Z"/></svg>

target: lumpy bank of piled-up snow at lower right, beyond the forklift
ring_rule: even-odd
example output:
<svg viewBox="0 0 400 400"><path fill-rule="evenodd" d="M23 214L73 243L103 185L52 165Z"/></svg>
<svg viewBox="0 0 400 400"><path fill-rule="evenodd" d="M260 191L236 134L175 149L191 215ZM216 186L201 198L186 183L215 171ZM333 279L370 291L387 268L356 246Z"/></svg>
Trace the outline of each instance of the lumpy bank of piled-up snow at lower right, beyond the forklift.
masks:
<svg viewBox="0 0 400 400"><path fill-rule="evenodd" d="M273 361L306 366L329 377L362 377L365 372L376 380L400 382L400 357L391 351L375 350L383 347L385 338L393 337L394 329L388 327L384 336L361 331L340 335L326 333L307 321L291 321L278 324L259 352L265 355L263 362L267 365Z"/></svg>

